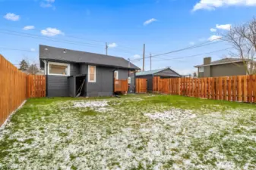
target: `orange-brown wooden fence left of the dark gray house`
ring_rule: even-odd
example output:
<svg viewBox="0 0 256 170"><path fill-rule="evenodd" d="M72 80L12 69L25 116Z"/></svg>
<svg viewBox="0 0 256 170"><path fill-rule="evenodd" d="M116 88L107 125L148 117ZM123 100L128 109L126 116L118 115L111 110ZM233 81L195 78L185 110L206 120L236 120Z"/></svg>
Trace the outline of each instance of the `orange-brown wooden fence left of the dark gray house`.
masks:
<svg viewBox="0 0 256 170"><path fill-rule="evenodd" d="M45 87L44 76L28 76L0 54L0 125L28 97L45 97Z"/></svg>

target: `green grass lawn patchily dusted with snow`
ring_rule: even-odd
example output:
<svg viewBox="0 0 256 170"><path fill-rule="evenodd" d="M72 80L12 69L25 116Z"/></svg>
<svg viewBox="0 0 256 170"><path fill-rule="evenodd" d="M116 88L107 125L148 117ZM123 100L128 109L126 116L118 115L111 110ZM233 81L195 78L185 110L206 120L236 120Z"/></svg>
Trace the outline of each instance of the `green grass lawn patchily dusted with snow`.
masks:
<svg viewBox="0 0 256 170"><path fill-rule="evenodd" d="M0 169L256 169L256 106L170 95L28 100Z"/></svg>

